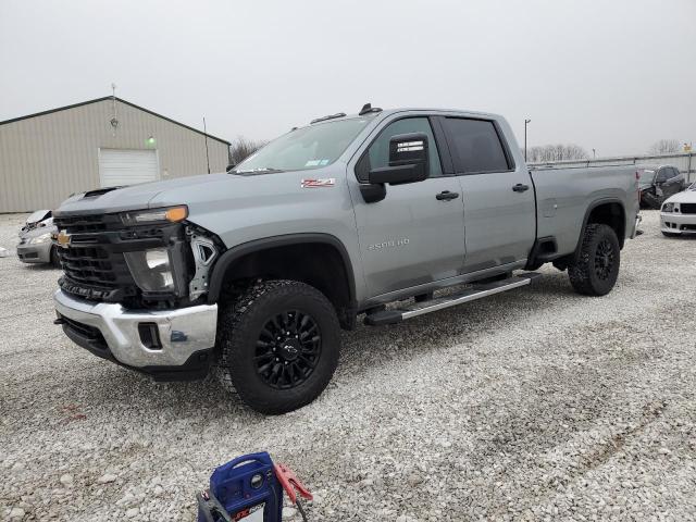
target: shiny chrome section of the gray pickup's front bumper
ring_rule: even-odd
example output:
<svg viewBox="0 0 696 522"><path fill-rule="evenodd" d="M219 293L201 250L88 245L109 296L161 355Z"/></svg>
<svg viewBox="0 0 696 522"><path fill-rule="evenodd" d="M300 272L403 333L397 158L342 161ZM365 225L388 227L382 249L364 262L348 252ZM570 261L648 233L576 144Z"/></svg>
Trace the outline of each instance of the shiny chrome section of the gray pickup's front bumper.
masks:
<svg viewBox="0 0 696 522"><path fill-rule="evenodd" d="M77 299L63 290L53 295L53 302L61 315L98 328L112 356L128 366L177 366L194 352L215 345L217 304L130 311L121 304ZM157 324L162 348L142 345L139 323Z"/></svg>

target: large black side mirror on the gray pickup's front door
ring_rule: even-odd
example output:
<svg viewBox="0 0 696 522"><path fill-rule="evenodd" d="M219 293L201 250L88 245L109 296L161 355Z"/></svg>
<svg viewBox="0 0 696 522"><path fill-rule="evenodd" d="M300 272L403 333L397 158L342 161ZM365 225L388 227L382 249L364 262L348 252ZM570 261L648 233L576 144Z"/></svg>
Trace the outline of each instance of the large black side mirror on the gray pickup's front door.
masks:
<svg viewBox="0 0 696 522"><path fill-rule="evenodd" d="M401 185L422 182L430 174L427 135L400 134L389 140L389 166L372 169L368 181L373 185Z"/></svg>

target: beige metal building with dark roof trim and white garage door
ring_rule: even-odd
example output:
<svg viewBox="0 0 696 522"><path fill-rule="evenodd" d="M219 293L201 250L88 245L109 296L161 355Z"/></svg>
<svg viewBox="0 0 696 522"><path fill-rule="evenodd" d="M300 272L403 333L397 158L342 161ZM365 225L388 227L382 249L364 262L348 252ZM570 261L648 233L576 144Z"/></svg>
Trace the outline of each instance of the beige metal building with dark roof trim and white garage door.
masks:
<svg viewBox="0 0 696 522"><path fill-rule="evenodd" d="M117 97L0 122L0 213L73 192L225 172L229 142Z"/></svg>

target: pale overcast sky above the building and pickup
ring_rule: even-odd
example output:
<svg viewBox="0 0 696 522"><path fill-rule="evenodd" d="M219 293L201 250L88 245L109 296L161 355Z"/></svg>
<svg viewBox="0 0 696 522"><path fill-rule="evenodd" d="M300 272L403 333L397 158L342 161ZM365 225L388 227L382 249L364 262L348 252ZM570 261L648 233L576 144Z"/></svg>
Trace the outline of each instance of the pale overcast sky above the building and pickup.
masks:
<svg viewBox="0 0 696 522"><path fill-rule="evenodd" d="M0 121L111 94L233 140L373 105L696 145L696 0L0 0Z"/></svg>

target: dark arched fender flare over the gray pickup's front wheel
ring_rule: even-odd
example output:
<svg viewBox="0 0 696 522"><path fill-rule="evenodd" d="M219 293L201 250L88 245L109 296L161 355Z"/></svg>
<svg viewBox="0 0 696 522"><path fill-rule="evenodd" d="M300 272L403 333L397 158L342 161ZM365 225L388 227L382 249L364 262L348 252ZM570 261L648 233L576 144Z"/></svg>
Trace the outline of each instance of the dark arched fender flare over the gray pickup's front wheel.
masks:
<svg viewBox="0 0 696 522"><path fill-rule="evenodd" d="M217 302L220 298L220 291L222 290L222 283L227 273L227 269L234 264L235 261L241 259L249 253L258 252L260 250L266 250L269 248L287 247L290 245L303 245L320 243L323 245L330 245L334 247L340 254L344 261L344 268L348 277L348 295L351 303L356 302L356 277L352 270L352 263L346 246L340 239L331 234L323 233L302 233L302 234L284 234L282 236L264 237L262 239L254 239L251 241L236 245L225 250L217 262L212 268L212 274L210 276L210 286L208 288L208 303L213 304Z"/></svg>

